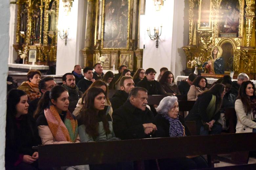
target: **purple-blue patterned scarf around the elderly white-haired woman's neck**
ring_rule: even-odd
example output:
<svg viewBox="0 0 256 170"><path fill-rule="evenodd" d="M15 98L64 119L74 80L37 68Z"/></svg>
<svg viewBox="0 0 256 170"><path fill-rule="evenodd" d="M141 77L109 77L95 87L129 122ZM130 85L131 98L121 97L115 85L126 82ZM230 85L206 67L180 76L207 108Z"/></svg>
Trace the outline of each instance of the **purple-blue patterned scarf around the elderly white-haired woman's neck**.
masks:
<svg viewBox="0 0 256 170"><path fill-rule="evenodd" d="M183 134L184 134L184 127L181 124L181 122L179 121L179 116L176 119L170 118L166 114L162 114L162 116L166 120L169 121L169 124L170 124L169 135L170 135L170 137L183 136Z"/></svg>

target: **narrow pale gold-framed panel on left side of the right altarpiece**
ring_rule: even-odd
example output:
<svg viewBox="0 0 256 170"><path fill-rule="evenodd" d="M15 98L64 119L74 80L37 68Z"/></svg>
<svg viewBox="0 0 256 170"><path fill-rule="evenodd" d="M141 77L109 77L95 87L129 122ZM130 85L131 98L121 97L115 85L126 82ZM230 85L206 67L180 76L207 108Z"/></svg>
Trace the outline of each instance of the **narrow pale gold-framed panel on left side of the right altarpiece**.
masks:
<svg viewBox="0 0 256 170"><path fill-rule="evenodd" d="M211 0L200 0L199 5L199 22L198 29L210 29L211 28Z"/></svg>

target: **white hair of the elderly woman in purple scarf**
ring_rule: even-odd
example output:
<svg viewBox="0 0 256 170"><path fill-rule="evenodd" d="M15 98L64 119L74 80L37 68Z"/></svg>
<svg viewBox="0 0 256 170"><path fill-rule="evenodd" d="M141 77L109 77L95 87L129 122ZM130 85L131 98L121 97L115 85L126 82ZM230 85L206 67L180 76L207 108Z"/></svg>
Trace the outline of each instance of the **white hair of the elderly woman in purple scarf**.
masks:
<svg viewBox="0 0 256 170"><path fill-rule="evenodd" d="M157 107L157 112L160 114L168 114L168 111L174 107L175 102L178 101L176 96L164 97Z"/></svg>

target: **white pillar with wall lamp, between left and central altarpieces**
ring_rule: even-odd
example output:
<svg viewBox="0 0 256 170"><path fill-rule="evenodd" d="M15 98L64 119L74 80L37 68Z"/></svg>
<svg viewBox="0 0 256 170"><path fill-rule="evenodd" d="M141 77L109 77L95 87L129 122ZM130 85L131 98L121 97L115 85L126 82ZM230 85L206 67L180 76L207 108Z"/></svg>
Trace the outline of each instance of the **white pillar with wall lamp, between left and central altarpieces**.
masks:
<svg viewBox="0 0 256 170"><path fill-rule="evenodd" d="M58 25L67 24L69 26L69 35L67 45L65 40L57 40L57 61L56 74L63 75L74 70L76 64L83 67L83 55L81 49L84 48L85 37L85 18L86 4L84 0L76 0L73 2L71 12L65 17L63 10L63 2L59 2L59 19ZM68 18L68 20L66 19Z"/></svg>

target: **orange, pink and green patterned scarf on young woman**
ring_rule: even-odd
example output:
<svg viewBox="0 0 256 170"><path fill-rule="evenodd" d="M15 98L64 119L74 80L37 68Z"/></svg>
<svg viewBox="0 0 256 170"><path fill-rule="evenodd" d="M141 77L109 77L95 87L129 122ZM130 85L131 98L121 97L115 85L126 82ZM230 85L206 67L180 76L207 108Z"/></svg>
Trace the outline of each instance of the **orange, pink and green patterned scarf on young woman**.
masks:
<svg viewBox="0 0 256 170"><path fill-rule="evenodd" d="M77 120L74 119L69 111L66 113L64 122L61 120L54 105L46 108L44 115L55 141L75 142L78 134Z"/></svg>

